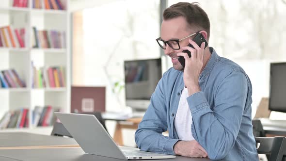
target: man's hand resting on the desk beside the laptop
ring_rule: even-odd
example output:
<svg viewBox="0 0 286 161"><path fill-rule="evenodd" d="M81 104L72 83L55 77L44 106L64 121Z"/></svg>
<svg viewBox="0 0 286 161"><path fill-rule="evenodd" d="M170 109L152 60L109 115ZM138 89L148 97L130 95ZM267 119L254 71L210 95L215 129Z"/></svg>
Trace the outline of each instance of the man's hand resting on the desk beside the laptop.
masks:
<svg viewBox="0 0 286 161"><path fill-rule="evenodd" d="M206 158L207 151L195 140L178 141L174 145L176 155L191 157L191 158Z"/></svg>

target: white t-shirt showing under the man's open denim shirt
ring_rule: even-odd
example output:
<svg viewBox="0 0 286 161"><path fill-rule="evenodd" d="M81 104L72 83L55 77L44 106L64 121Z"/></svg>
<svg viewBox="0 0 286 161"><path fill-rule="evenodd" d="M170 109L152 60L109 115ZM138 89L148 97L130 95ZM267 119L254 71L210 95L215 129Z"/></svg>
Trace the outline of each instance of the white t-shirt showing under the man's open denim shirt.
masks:
<svg viewBox="0 0 286 161"><path fill-rule="evenodd" d="M191 135L191 111L187 102L189 97L188 89L184 88L180 97L179 107L175 116L175 129L179 139L191 141L194 138Z"/></svg>

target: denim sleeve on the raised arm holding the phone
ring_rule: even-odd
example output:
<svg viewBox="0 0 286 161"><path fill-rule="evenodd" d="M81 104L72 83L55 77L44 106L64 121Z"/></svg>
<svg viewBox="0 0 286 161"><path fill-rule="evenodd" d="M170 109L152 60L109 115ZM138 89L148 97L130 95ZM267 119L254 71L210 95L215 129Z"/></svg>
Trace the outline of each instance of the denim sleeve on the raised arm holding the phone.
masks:
<svg viewBox="0 0 286 161"><path fill-rule="evenodd" d="M243 111L248 106L248 87L246 75L233 71L219 84L213 110L202 91L187 98L193 120L192 135L211 160L224 158L235 145Z"/></svg>

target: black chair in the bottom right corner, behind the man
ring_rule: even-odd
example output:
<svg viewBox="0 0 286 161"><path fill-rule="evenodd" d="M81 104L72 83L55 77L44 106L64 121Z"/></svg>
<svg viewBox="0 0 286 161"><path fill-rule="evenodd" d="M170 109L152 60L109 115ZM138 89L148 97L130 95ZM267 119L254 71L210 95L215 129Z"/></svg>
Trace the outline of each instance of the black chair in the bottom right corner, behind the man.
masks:
<svg viewBox="0 0 286 161"><path fill-rule="evenodd" d="M286 161L286 137L254 137L258 154L270 155L268 161Z"/></svg>

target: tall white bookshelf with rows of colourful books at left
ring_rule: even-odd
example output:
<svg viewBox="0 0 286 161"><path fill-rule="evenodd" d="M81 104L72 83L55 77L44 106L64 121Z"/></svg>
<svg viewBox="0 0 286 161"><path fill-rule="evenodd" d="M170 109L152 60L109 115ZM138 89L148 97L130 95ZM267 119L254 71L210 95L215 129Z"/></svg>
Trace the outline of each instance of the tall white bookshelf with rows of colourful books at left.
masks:
<svg viewBox="0 0 286 161"><path fill-rule="evenodd" d="M0 28L5 26L12 26L13 29L25 28L25 47L0 47L0 71L15 69L26 83L25 88L3 88L0 85L0 119L8 111L29 109L28 128L0 129L0 132L50 132L51 127L32 125L32 111L35 106L50 105L60 108L63 112L70 112L69 0L60 0L64 10L46 9L45 0L38 1L43 6L40 9L33 8L34 0L27 0L27 7L13 7L14 0L3 0L0 3ZM33 27L38 31L65 32L61 39L65 41L65 45L60 48L51 46L33 48L35 41ZM34 73L31 62L36 68L63 67L64 87L33 87Z"/></svg>

